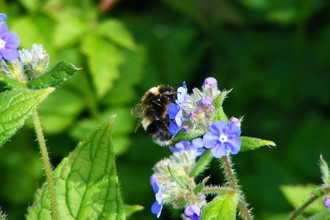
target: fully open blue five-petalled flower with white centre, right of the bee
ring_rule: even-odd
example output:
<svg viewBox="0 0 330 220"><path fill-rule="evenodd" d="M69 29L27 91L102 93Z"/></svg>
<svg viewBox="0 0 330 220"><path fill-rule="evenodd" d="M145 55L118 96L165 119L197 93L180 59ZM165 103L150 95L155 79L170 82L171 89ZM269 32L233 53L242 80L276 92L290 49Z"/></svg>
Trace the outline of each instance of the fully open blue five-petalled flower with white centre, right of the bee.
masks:
<svg viewBox="0 0 330 220"><path fill-rule="evenodd" d="M217 121L210 126L210 131L203 136L206 148L211 148L215 158L226 156L228 151L237 154L241 149L242 141L239 138L241 131L233 122L226 125L223 121Z"/></svg>

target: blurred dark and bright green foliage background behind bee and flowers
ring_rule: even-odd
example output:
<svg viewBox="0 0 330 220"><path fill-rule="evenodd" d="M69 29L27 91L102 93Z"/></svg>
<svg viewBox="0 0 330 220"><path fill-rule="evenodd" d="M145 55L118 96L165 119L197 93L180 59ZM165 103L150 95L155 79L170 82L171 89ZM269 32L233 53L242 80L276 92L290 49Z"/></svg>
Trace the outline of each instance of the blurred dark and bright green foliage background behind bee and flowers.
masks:
<svg viewBox="0 0 330 220"><path fill-rule="evenodd" d="M150 87L200 87L215 77L231 89L229 117L244 116L242 134L275 141L233 156L256 219L292 210L280 191L321 184L318 158L330 162L330 3L322 0L0 0L20 48L43 44L50 68L68 60L83 68L39 108L54 166L77 142L116 114L114 143L126 204L149 211L153 165L170 153L130 115ZM1 84L2 90L5 90ZM36 137L27 123L0 148L0 206L23 219L44 181ZM222 183L215 161L206 174ZM160 219L180 219L166 206Z"/></svg>

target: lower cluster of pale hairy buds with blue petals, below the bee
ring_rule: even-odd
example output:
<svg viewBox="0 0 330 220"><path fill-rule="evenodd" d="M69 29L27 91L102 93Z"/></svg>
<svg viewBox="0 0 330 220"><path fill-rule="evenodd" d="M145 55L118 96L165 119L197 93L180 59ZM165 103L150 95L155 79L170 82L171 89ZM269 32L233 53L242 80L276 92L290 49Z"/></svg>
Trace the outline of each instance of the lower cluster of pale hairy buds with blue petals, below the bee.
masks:
<svg viewBox="0 0 330 220"><path fill-rule="evenodd" d="M198 220L201 208L206 204L205 195L196 193L194 179L189 176L196 163L195 151L192 148L173 153L170 158L161 160L154 166L150 184L155 192L156 201L151 212L160 216L164 204L174 208L184 208L184 215Z"/></svg>

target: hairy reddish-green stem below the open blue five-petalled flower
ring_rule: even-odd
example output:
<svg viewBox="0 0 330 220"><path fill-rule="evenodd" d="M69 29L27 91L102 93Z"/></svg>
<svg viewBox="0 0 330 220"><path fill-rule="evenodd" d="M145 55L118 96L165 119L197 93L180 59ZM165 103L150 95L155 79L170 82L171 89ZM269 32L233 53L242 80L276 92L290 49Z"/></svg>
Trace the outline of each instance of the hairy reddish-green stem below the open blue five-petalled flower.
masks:
<svg viewBox="0 0 330 220"><path fill-rule="evenodd" d="M229 187L239 193L238 209L240 211L240 215L243 217L243 219L252 220L253 218L250 213L250 210L247 208L247 203L244 200L243 193L237 184L238 181L235 177L235 171L232 168L232 163L230 161L230 157L224 156L224 157L221 157L220 160L222 162L222 167L224 169L226 179L229 182Z"/></svg>

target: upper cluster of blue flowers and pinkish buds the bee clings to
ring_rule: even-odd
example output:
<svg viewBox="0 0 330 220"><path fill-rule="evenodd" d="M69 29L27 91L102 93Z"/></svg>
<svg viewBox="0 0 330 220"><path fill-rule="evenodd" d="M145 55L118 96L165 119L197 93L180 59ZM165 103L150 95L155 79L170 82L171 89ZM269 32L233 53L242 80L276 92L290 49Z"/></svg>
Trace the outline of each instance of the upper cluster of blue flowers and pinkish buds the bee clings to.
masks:
<svg viewBox="0 0 330 220"><path fill-rule="evenodd" d="M239 138L241 120L232 118L227 124L222 120L216 120L217 106L214 102L221 94L217 86L217 80L208 77L202 85L202 90L194 88L192 94L187 93L185 82L178 88L175 104L172 103L168 107L169 117L173 120L169 126L170 132L175 136L180 130L184 133L199 130L204 136L192 141L192 146L188 144L189 141L179 142L176 148L170 147L172 152L195 146L198 146L197 156L203 153L204 146L211 149L212 155L216 158L239 152L242 144Z"/></svg>

